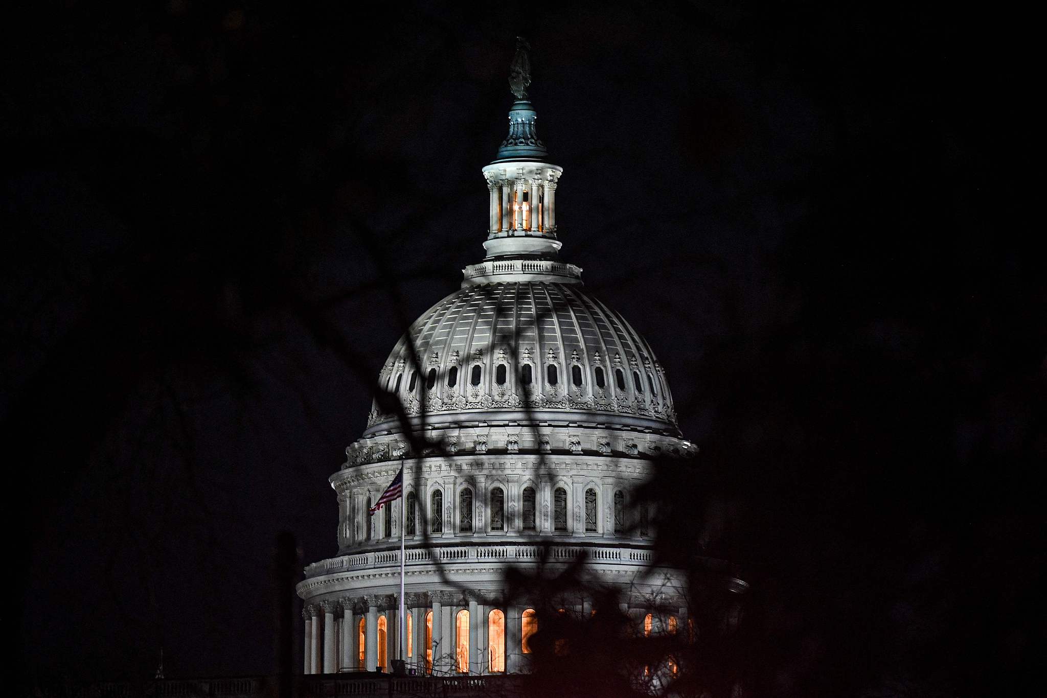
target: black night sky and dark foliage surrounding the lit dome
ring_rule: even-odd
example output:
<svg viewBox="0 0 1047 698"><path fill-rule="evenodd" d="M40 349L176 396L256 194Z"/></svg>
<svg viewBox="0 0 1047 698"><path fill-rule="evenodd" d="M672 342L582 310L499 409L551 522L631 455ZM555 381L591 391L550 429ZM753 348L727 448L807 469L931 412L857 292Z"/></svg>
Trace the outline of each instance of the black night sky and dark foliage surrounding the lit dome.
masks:
<svg viewBox="0 0 1047 698"><path fill-rule="evenodd" d="M482 256L526 33L564 257L701 446L715 551L753 584L751 686L1040 680L1027 19L99 4L8 17L3 48L22 672L149 677L161 647L168 676L273 671L276 533L335 553L326 479L369 382Z"/></svg>

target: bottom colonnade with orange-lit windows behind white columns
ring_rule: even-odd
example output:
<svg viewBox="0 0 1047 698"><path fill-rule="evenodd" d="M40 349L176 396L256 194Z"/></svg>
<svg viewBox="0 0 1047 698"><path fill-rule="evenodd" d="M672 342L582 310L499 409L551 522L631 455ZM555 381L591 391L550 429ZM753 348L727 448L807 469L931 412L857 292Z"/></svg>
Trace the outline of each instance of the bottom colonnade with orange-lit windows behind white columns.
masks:
<svg viewBox="0 0 1047 698"><path fill-rule="evenodd" d="M587 616L592 604L585 601L572 609ZM406 634L401 638L395 594L343 596L307 605L303 609L305 673L392 672L399 656L419 673L529 670L528 637L537 630L537 617L527 605L485 605L459 592L430 591L407 593L405 610ZM652 614L622 604L621 611L645 634L687 627L683 607L673 608L670 614Z"/></svg>

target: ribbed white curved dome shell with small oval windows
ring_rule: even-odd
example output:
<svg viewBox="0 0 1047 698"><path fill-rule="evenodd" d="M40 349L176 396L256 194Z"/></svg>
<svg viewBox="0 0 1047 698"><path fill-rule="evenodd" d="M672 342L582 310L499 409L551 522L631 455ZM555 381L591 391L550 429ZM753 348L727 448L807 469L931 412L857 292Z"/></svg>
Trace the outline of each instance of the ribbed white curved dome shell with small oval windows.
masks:
<svg viewBox="0 0 1047 698"><path fill-rule="evenodd" d="M672 398L650 346L580 285L467 286L429 309L409 334L421 371L404 337L379 381L408 416L424 409L465 422L477 412L520 419L521 410L533 410L540 419L553 412L580 420L567 413L585 412L601 423L675 430ZM395 418L376 406L369 427L396 428Z"/></svg>

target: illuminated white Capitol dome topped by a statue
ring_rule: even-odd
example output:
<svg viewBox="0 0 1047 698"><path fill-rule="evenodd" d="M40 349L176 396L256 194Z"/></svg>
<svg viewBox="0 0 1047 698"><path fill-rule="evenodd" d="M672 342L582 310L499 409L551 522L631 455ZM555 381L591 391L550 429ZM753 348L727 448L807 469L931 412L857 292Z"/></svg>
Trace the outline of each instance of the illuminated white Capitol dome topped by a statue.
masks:
<svg viewBox="0 0 1047 698"><path fill-rule="evenodd" d="M526 672L536 600L508 599L506 570L579 557L644 632L687 627L685 573L652 567L656 532L634 493L655 458L697 449L650 344L560 258L563 170L536 132L524 50L510 83L509 134L483 168L486 256L393 348L367 428L330 478L338 556L297 586L306 674L391 671L398 657L420 673ZM401 467L403 497L369 514Z"/></svg>

